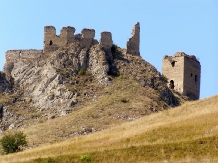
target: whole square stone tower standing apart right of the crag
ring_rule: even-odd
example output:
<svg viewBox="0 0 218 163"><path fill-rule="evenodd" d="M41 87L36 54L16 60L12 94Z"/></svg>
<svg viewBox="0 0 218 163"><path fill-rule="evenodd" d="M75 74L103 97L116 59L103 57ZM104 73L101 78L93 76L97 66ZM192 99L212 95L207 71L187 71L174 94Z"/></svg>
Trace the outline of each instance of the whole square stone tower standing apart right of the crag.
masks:
<svg viewBox="0 0 218 163"><path fill-rule="evenodd" d="M177 52L174 56L165 56L162 74L168 78L171 89L191 99L199 99L201 65L194 55Z"/></svg>

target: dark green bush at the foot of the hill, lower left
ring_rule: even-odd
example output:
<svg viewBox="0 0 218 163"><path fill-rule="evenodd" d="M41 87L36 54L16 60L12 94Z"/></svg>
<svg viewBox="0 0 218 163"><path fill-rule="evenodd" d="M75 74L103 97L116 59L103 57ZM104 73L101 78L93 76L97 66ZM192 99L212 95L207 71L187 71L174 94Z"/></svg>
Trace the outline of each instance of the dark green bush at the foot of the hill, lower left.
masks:
<svg viewBox="0 0 218 163"><path fill-rule="evenodd" d="M22 146L27 145L26 135L21 131L15 134L5 135L1 139L1 144L6 154L18 152Z"/></svg>

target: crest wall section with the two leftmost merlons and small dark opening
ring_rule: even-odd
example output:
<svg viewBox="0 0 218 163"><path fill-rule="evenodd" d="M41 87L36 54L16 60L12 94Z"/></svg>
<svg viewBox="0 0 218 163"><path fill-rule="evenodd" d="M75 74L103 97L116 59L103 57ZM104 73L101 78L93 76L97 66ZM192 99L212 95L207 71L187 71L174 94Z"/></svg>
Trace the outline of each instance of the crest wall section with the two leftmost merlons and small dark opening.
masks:
<svg viewBox="0 0 218 163"><path fill-rule="evenodd" d="M63 27L60 35L56 35L53 26L44 27L44 52L57 50L59 47L67 46L74 41L74 27Z"/></svg>

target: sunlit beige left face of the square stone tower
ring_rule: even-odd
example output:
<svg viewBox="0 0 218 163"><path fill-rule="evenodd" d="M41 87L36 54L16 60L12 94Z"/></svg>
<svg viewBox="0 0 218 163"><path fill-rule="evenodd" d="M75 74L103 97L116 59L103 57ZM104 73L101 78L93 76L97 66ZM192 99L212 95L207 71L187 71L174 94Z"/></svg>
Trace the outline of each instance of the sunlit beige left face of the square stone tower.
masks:
<svg viewBox="0 0 218 163"><path fill-rule="evenodd" d="M174 62L174 66L172 63ZM174 89L183 94L184 57L167 56L162 60L162 74L167 77L168 84L174 81Z"/></svg>

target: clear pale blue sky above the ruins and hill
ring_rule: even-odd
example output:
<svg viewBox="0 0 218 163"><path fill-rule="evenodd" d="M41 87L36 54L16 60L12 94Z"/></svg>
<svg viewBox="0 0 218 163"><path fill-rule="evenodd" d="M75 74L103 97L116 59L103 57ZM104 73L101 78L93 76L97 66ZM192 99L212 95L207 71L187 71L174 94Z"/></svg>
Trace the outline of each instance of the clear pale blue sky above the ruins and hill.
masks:
<svg viewBox="0 0 218 163"><path fill-rule="evenodd" d="M0 70L12 49L42 49L44 26L112 33L125 48L136 22L141 56L161 72L164 55L194 54L201 62L201 98L218 94L218 0L1 0Z"/></svg>

